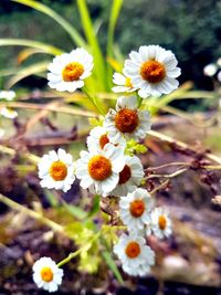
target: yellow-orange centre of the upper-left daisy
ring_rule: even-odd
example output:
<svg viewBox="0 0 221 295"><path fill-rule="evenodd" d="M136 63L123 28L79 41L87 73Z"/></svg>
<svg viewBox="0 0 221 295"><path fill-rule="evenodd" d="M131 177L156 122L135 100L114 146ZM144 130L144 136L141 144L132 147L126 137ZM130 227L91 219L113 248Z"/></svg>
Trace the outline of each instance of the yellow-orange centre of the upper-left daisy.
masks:
<svg viewBox="0 0 221 295"><path fill-rule="evenodd" d="M63 72L62 77L65 82L73 82L81 77L81 75L84 73L84 66L81 63L73 62L69 63Z"/></svg>

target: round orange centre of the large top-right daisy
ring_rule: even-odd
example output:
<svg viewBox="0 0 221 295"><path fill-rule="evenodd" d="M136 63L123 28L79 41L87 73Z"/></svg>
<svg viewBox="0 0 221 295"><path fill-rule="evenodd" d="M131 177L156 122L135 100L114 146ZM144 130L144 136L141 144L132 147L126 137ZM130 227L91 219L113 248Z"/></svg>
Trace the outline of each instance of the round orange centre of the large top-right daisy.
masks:
<svg viewBox="0 0 221 295"><path fill-rule="evenodd" d="M159 83L165 78L166 70L158 61L147 61L140 67L140 75L149 83Z"/></svg>

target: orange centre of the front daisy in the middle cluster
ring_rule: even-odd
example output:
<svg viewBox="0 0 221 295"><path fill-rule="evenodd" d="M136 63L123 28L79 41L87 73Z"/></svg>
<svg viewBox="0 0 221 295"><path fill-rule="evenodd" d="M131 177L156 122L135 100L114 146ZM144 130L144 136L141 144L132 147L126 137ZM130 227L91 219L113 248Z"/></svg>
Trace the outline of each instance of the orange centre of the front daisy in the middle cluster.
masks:
<svg viewBox="0 0 221 295"><path fill-rule="evenodd" d="M94 156L88 162L88 173L97 181L103 181L108 178L112 175L109 159L103 156Z"/></svg>

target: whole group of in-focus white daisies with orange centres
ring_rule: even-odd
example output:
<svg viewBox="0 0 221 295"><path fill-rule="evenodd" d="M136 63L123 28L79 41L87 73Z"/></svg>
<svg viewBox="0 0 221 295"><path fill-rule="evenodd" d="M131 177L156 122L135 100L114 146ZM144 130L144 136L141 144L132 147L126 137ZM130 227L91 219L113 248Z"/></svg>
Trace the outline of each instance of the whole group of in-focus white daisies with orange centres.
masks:
<svg viewBox="0 0 221 295"><path fill-rule="evenodd" d="M93 57L83 49L56 56L49 65L49 86L74 92L84 86L91 75ZM155 252L147 245L147 236L158 239L171 234L171 221L162 208L155 208L152 197L139 188L145 177L140 159L127 152L127 141L145 139L150 130L150 116L140 109L140 102L150 95L168 94L178 87L180 69L170 51L158 45L140 46L125 61L123 74L114 74L113 88L120 96L115 109L104 116L103 126L93 128L87 137L87 150L73 162L65 150L52 150L39 162L41 186L48 189L71 189L75 178L83 189L102 198L119 200L119 217L128 234L122 234L114 253L129 275L147 275L155 264ZM61 284L63 272L50 259L43 257L34 266L34 282L50 292Z"/></svg>

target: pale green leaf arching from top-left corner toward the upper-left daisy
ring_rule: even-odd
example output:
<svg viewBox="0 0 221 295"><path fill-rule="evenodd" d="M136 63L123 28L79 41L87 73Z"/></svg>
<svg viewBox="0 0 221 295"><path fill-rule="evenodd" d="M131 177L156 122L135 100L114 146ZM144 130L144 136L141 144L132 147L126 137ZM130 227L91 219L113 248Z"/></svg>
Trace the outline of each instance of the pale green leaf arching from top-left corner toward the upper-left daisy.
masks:
<svg viewBox="0 0 221 295"><path fill-rule="evenodd" d="M72 38L74 43L77 46L86 48L86 43L84 39L80 35L80 33L74 29L74 27L71 25L70 22L67 22L65 19L63 19L59 13L56 13L54 10L49 8L48 6L40 3L38 1L33 0L12 0L13 2L31 7L35 10L41 11L42 13L51 17L53 20L55 20Z"/></svg>

